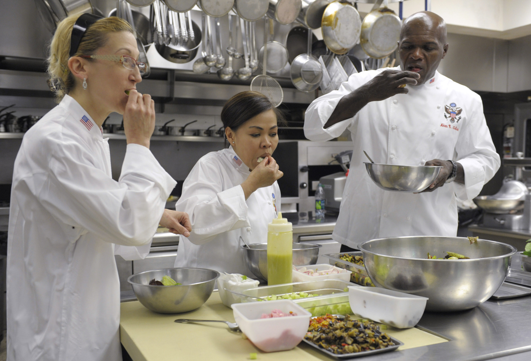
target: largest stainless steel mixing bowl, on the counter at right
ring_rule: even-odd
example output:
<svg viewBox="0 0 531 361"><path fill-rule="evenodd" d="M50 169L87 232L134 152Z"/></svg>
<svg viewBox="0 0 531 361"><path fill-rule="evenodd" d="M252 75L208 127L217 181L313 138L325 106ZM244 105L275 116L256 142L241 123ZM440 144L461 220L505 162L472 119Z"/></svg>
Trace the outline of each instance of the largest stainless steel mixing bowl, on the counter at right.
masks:
<svg viewBox="0 0 531 361"><path fill-rule="evenodd" d="M501 286L516 248L461 237L391 237L359 245L365 268L378 287L428 297L426 310L457 311L476 307ZM427 259L445 251L470 259Z"/></svg>

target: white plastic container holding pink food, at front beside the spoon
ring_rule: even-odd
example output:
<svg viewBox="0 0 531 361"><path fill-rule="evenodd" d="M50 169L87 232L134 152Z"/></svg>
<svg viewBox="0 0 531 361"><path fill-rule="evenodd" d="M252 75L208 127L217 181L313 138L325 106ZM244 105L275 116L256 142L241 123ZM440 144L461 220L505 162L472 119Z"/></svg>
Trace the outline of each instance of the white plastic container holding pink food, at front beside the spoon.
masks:
<svg viewBox="0 0 531 361"><path fill-rule="evenodd" d="M290 350L302 341L308 331L311 313L292 300L252 302L232 305L234 320L247 338L262 351ZM260 318L279 309L297 316Z"/></svg>

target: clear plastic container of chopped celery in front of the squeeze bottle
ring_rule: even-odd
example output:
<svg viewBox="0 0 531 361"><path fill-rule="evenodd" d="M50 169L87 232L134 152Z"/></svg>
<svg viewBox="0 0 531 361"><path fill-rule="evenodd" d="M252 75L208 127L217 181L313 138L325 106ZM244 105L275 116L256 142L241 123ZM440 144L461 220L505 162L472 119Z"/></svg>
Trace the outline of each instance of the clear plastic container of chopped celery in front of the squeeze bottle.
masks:
<svg viewBox="0 0 531 361"><path fill-rule="evenodd" d="M344 280L322 280L309 282L295 282L286 284L275 284L275 286L264 286L244 290L241 292L231 291L234 293L234 298L241 300L242 303L267 301L268 296L282 297L284 295L304 292L312 295L330 295L331 293L344 293L348 291L348 286L352 283ZM314 297L301 297L304 299L311 299ZM233 305L234 308L234 305Z"/></svg>

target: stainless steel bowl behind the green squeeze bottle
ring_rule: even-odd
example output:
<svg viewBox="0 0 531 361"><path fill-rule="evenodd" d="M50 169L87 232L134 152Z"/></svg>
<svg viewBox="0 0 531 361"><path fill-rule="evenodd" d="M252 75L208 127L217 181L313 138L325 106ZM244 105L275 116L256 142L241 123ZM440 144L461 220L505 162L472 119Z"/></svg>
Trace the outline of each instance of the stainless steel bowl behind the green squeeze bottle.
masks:
<svg viewBox="0 0 531 361"><path fill-rule="evenodd" d="M251 248L249 248L251 247ZM251 272L262 281L267 281L267 243L254 243L245 249L245 263ZM316 264L319 257L319 248L322 245L313 243L293 244L293 265L306 266Z"/></svg>

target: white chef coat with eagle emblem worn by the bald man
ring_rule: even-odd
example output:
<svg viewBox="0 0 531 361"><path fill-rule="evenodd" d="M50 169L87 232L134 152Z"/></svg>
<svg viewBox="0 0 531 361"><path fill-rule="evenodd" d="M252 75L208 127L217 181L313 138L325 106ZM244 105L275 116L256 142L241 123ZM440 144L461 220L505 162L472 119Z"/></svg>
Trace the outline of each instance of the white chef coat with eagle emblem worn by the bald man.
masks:
<svg viewBox="0 0 531 361"><path fill-rule="evenodd" d="M500 167L481 98L435 72L423 85L407 86L408 94L370 102L354 117L323 128L343 96L383 70L350 75L339 90L315 99L306 110L306 138L329 140L348 129L354 142L332 238L356 247L380 237L455 237L456 196L463 200L476 197ZM450 113L459 113L458 108L461 111L452 117L445 106L452 108ZM463 165L465 184L452 182L422 194L385 191L367 174L363 150L375 163L424 165L432 159L453 159Z"/></svg>

